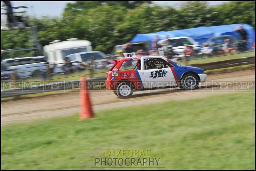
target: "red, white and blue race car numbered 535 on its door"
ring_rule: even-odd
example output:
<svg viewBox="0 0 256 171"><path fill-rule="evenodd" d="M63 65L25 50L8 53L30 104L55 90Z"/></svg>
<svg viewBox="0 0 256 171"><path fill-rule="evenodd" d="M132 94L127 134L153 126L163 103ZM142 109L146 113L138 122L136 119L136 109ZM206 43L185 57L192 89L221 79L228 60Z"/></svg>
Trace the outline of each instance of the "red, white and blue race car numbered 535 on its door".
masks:
<svg viewBox="0 0 256 171"><path fill-rule="evenodd" d="M170 87L192 90L207 77L201 68L180 66L163 56L136 57L134 52L124 53L124 56L114 60L105 81L107 89L120 98L131 97L133 90ZM131 61L135 62L134 67Z"/></svg>

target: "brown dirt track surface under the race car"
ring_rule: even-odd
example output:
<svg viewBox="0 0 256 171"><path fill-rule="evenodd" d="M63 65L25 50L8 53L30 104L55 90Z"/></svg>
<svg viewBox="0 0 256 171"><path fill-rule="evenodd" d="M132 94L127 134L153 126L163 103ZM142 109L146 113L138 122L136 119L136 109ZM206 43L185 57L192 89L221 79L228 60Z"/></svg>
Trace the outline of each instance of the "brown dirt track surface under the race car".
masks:
<svg viewBox="0 0 256 171"><path fill-rule="evenodd" d="M255 93L255 69L232 73L211 74L199 89L180 90L179 88L158 89L133 92L132 98L119 99L113 91L102 89L90 91L94 111L206 97L214 94L232 92ZM241 83L242 82L242 83ZM68 92L45 97L12 100L1 103L1 125L24 122L40 118L68 116L80 112L79 92Z"/></svg>

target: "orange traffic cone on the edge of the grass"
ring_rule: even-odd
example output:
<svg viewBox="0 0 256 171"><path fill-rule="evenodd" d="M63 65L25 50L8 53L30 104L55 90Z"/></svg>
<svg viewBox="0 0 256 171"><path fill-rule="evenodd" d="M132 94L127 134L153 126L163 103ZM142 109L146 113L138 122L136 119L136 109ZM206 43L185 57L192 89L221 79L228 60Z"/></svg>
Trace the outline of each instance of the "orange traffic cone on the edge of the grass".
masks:
<svg viewBox="0 0 256 171"><path fill-rule="evenodd" d="M90 101L89 92L87 92L87 84L85 76L81 76L80 81L80 100L81 100L81 113L80 119L93 118L92 105Z"/></svg>

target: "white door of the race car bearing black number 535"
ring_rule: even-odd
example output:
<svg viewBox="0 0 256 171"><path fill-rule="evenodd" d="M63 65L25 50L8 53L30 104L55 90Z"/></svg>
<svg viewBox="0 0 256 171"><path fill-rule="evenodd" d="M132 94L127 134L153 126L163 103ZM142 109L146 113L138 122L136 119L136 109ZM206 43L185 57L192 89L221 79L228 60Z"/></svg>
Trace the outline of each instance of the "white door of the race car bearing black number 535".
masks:
<svg viewBox="0 0 256 171"><path fill-rule="evenodd" d="M164 62L160 61L161 58L148 58L148 59L149 60L151 59L151 61L152 60L156 61L158 66L154 67L155 69L147 69L147 66L145 66L145 60L147 59L144 59L144 62L143 62L144 70L140 72L141 73L140 77L143 83L143 87L145 89L176 85L176 81L175 81L174 75L172 74L172 70L170 66L166 65L164 67Z"/></svg>

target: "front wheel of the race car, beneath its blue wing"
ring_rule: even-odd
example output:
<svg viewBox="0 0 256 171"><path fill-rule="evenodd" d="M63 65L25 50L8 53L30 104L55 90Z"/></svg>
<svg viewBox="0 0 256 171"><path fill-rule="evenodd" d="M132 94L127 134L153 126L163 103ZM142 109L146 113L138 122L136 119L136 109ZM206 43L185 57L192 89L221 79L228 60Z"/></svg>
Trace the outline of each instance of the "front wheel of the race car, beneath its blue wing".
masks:
<svg viewBox="0 0 256 171"><path fill-rule="evenodd" d="M198 87L199 80L196 74L185 74L180 82L180 88L186 90L196 89Z"/></svg>

